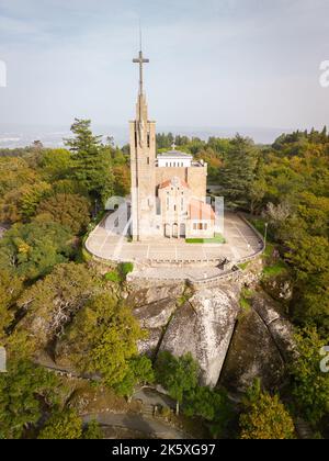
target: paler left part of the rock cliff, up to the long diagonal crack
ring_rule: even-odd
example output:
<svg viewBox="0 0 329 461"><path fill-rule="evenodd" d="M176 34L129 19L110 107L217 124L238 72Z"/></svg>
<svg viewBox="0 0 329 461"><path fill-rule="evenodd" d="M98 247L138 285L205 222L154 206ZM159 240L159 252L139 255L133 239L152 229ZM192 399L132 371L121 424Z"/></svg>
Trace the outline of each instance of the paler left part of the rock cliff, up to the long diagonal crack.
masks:
<svg viewBox="0 0 329 461"><path fill-rule="evenodd" d="M239 313L239 289L222 284L197 291L181 306L172 297L174 292L178 289L158 288L156 293L148 289L144 300L154 300L159 293L170 296L134 311L149 331L148 338L139 342L139 351L152 357L157 350L168 350L177 357L191 352L200 364L202 384L215 386Z"/></svg>

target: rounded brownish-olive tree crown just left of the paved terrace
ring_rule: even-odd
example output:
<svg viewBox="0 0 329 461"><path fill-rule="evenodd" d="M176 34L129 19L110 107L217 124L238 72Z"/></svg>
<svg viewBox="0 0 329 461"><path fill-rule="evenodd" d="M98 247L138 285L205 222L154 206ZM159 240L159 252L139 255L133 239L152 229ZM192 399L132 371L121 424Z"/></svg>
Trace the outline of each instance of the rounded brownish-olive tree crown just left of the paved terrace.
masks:
<svg viewBox="0 0 329 461"><path fill-rule="evenodd" d="M58 193L41 202L37 215L38 222L53 221L79 235L90 222L90 203L78 194Z"/></svg>

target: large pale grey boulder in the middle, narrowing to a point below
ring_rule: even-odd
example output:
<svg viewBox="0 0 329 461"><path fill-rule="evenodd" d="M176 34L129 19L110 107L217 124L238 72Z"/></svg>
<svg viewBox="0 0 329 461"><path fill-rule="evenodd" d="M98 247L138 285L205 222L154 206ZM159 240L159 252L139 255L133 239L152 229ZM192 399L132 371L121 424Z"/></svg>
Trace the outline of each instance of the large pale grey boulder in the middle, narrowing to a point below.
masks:
<svg viewBox="0 0 329 461"><path fill-rule="evenodd" d="M191 352L201 383L215 386L239 313L239 291L229 284L196 292L170 322L160 350L177 357Z"/></svg>

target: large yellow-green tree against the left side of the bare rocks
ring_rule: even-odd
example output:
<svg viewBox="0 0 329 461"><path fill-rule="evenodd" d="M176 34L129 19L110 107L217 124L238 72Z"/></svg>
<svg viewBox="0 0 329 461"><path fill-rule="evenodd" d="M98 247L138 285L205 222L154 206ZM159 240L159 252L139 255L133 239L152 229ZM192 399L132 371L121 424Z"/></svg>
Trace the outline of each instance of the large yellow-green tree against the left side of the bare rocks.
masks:
<svg viewBox="0 0 329 461"><path fill-rule="evenodd" d="M102 293L78 312L58 353L67 351L81 371L101 374L105 385L124 393L145 370L145 362L133 360L138 353L137 340L143 337L131 310ZM124 380L125 385L120 387Z"/></svg>

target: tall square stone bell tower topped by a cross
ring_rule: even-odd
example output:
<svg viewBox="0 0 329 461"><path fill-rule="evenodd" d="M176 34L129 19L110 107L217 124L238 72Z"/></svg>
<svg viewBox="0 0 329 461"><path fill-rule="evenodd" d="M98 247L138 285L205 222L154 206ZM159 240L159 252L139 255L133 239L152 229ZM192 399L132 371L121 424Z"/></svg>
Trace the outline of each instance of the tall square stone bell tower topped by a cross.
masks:
<svg viewBox="0 0 329 461"><path fill-rule="evenodd" d="M140 49L133 63L139 65L139 89L136 119L129 122L132 172L132 236L146 240L155 235L156 227L156 122L148 120L147 102L143 88L145 59Z"/></svg>

